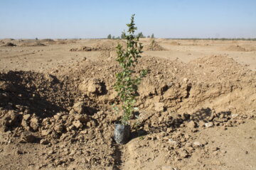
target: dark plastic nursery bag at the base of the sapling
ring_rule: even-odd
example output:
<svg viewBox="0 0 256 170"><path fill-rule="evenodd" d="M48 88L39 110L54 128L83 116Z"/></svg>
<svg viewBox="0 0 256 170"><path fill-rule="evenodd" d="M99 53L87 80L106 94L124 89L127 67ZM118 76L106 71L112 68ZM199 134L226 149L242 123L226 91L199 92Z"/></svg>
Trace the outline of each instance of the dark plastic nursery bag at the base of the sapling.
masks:
<svg viewBox="0 0 256 170"><path fill-rule="evenodd" d="M130 126L115 124L114 125L114 140L117 144L125 144L129 141Z"/></svg>

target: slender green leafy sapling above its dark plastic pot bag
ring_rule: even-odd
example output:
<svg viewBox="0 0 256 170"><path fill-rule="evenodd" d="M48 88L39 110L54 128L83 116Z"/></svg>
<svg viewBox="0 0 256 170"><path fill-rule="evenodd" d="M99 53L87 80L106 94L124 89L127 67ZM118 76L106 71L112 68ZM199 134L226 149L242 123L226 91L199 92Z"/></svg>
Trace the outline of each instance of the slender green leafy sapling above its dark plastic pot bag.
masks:
<svg viewBox="0 0 256 170"><path fill-rule="evenodd" d="M131 22L127 24L127 33L122 33L125 40L127 40L127 48L124 49L122 45L117 45L117 62L121 67L121 72L116 74L115 90L118 92L117 96L121 103L122 118L120 123L122 125L129 125L129 120L134 113L134 105L136 103L136 92L142 77L146 75L146 70L142 69L137 74L134 71L139 57L142 57L142 43L139 42L141 34L134 35L137 27L134 24L134 14Z"/></svg>

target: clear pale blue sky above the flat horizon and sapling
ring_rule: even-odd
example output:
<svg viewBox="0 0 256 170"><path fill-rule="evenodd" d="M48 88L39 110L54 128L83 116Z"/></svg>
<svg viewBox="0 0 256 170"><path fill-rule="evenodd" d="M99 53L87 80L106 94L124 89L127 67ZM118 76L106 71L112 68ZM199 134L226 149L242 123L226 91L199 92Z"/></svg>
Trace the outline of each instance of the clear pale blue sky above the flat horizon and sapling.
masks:
<svg viewBox="0 0 256 170"><path fill-rule="evenodd" d="M256 38L255 0L0 0L0 38Z"/></svg>

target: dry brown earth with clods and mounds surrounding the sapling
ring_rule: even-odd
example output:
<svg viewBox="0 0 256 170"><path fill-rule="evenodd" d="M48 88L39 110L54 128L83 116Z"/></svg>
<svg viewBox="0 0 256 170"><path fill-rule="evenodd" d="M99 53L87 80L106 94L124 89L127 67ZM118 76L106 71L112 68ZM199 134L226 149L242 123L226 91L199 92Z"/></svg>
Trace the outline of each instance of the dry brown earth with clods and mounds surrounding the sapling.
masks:
<svg viewBox="0 0 256 170"><path fill-rule="evenodd" d="M126 145L112 140L124 41L1 42L17 46L0 47L0 169L256 169L256 52L230 49L256 42L156 39Z"/></svg>

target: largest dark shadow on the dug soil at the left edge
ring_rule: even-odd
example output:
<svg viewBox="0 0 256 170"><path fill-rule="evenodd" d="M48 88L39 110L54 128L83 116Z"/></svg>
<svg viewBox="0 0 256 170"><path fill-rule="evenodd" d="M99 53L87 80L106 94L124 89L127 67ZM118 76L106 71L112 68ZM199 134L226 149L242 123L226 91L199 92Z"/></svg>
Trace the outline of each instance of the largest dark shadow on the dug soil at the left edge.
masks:
<svg viewBox="0 0 256 170"><path fill-rule="evenodd" d="M5 94L6 98L0 101L0 107L6 110L14 110L18 107L21 108L21 111L29 114L35 113L40 118L65 111L64 108L50 102L47 96L44 95L50 92L49 89L53 89L53 92L55 92L57 90L55 84L60 84L55 77L51 76L50 78L52 80L47 82L43 80L43 74L34 72L7 72L1 74L0 81L6 82L6 90L0 89L0 93Z"/></svg>

